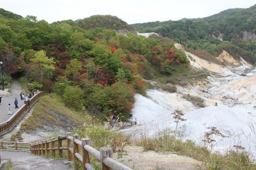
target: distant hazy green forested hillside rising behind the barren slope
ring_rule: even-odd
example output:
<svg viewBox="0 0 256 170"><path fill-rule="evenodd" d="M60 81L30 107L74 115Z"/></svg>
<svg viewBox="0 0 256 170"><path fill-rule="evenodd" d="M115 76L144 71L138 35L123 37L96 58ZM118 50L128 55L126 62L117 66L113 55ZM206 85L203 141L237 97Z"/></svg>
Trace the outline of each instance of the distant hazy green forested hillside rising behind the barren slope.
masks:
<svg viewBox="0 0 256 170"><path fill-rule="evenodd" d="M218 56L226 50L235 58L256 62L256 5L235 8L206 18L133 24L138 32L154 32L197 51ZM253 35L247 38L245 35Z"/></svg>

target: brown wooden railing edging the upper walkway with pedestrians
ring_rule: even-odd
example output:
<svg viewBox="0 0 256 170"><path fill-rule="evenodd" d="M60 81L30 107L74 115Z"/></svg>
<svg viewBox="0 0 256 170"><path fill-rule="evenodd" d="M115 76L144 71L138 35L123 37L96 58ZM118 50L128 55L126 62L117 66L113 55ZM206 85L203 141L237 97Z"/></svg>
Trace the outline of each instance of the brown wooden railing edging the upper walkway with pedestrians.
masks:
<svg viewBox="0 0 256 170"><path fill-rule="evenodd" d="M16 123L18 123L19 120L25 116L26 112L30 109L30 107L33 106L39 98L46 94L47 93L45 91L41 91L34 95L32 98L24 101L24 105L21 106L20 109L15 112L15 114L11 116L10 119L5 121L4 123L0 123L0 136L7 134L10 130L12 130L12 128L15 127Z"/></svg>

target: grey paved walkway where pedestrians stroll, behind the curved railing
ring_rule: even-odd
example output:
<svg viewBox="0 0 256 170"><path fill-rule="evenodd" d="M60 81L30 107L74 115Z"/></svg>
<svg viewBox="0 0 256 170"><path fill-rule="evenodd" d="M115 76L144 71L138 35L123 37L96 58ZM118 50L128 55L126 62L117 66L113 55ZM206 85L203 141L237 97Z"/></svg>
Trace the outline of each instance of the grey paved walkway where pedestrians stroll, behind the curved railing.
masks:
<svg viewBox="0 0 256 170"><path fill-rule="evenodd" d="M8 93L8 88L5 88L4 91L0 91L0 96L3 94L8 94L7 97L2 98L2 102L0 105L0 123L3 123L11 118L17 112L20 108L20 106L24 105L24 101L20 98L20 92L22 92L22 89L19 85L19 81L17 79L13 79L12 85L11 85L11 93ZM14 100L15 98L18 99L18 109L15 109ZM11 112L12 115L8 115L8 104L11 104Z"/></svg>

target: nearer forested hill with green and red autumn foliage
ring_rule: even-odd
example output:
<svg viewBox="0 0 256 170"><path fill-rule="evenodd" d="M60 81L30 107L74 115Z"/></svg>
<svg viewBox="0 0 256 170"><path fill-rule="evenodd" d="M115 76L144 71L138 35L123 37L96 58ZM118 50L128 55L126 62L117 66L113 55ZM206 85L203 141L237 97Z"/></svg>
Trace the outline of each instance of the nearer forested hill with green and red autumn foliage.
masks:
<svg viewBox="0 0 256 170"><path fill-rule="evenodd" d="M56 93L72 109L80 110L82 104L99 117L113 112L128 116L134 93L146 94L144 79L189 70L186 55L171 40L118 33L132 29L117 17L49 24L35 16L0 13L5 83L19 73L22 83L32 83L30 90Z"/></svg>

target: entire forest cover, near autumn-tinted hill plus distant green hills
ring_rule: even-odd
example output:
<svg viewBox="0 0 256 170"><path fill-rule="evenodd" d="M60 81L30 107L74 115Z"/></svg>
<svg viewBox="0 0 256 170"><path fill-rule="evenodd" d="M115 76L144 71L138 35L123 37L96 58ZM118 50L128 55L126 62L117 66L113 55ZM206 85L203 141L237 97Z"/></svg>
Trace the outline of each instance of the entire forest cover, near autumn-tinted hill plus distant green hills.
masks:
<svg viewBox="0 0 256 170"><path fill-rule="evenodd" d="M207 18L132 26L111 15L49 24L36 16L23 18L0 9L4 83L18 73L23 83L32 83L30 90L56 93L72 109L79 110L82 104L99 117L113 112L128 116L133 94L144 95L151 86L145 80L193 71L184 52L174 47L175 42L211 61L215 61L211 54L216 57L226 50L254 63L256 43L242 36L244 32L255 33L255 7L230 9ZM137 36L135 30L164 37ZM214 38L221 35L222 40Z"/></svg>

